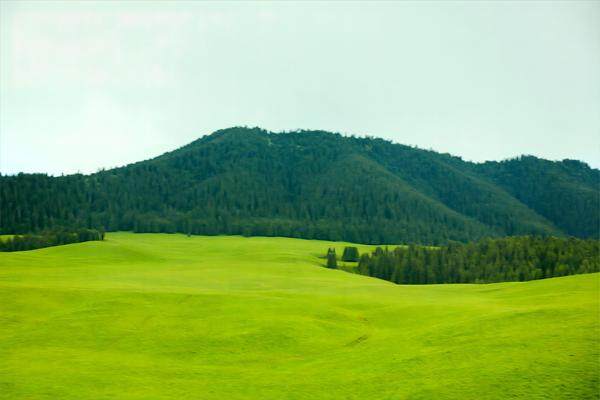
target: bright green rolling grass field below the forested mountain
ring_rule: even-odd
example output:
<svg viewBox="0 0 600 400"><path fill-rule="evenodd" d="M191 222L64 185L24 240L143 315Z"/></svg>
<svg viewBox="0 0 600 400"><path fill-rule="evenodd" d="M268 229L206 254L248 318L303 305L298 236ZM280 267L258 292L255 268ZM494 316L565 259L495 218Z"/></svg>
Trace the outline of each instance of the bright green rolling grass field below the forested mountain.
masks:
<svg viewBox="0 0 600 400"><path fill-rule="evenodd" d="M321 267L331 245L0 253L0 398L599 398L598 274L398 286Z"/></svg>

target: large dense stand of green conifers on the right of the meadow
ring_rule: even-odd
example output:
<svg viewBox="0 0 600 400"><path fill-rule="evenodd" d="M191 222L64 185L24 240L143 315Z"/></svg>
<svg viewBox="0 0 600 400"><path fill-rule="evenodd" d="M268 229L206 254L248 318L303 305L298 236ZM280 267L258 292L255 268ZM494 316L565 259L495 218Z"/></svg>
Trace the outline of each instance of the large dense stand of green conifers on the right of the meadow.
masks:
<svg viewBox="0 0 600 400"><path fill-rule="evenodd" d="M435 248L378 247L357 272L402 284L488 283L598 272L600 241L531 236Z"/></svg>

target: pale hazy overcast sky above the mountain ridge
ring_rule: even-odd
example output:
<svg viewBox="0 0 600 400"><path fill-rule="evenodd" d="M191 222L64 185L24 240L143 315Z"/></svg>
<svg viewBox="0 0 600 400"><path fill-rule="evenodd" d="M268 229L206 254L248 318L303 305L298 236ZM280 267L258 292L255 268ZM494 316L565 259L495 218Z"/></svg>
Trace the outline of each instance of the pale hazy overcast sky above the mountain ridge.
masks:
<svg viewBox="0 0 600 400"><path fill-rule="evenodd" d="M0 3L0 171L325 129L600 166L600 2Z"/></svg>

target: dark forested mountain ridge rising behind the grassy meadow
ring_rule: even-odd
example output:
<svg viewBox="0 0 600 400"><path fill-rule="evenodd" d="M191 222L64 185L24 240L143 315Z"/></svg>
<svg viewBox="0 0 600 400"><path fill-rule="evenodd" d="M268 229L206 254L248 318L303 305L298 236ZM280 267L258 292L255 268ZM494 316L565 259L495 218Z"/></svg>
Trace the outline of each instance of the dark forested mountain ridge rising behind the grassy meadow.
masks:
<svg viewBox="0 0 600 400"><path fill-rule="evenodd" d="M0 233L52 227L441 244L598 237L600 171L476 164L383 139L230 128L91 175L0 177Z"/></svg>

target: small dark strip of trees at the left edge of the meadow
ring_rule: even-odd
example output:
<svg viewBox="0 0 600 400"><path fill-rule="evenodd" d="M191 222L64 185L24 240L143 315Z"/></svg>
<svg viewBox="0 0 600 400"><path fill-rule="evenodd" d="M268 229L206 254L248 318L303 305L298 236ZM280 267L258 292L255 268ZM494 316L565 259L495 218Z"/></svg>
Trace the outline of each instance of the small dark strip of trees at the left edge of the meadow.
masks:
<svg viewBox="0 0 600 400"><path fill-rule="evenodd" d="M80 228L74 231L65 229L47 230L39 234L17 235L0 239L0 251L23 251L61 244L104 240L104 231Z"/></svg>

